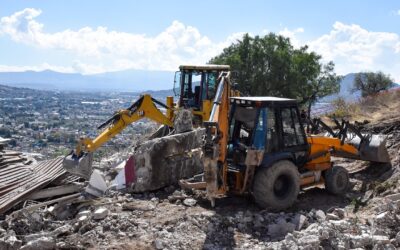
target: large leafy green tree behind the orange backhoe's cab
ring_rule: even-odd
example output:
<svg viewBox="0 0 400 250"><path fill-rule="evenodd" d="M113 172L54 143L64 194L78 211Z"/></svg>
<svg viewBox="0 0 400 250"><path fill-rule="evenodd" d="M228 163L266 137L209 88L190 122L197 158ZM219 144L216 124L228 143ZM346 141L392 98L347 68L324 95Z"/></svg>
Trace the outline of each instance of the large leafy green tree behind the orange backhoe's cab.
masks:
<svg viewBox="0 0 400 250"><path fill-rule="evenodd" d="M244 95L296 98L310 112L319 98L340 88L333 62L323 65L320 60L307 46L295 49L289 38L270 33L254 38L246 34L210 63L230 65Z"/></svg>

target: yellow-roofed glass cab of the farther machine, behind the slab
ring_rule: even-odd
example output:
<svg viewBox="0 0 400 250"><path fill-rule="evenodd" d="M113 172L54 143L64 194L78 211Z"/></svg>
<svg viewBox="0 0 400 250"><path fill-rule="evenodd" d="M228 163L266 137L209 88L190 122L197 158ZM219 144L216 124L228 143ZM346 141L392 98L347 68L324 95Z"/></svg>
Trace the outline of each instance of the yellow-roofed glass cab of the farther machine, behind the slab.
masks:
<svg viewBox="0 0 400 250"><path fill-rule="evenodd" d="M203 110L203 102L211 101L217 91L217 79L222 71L229 71L229 65L181 65L175 72L174 93L179 96L179 107Z"/></svg>

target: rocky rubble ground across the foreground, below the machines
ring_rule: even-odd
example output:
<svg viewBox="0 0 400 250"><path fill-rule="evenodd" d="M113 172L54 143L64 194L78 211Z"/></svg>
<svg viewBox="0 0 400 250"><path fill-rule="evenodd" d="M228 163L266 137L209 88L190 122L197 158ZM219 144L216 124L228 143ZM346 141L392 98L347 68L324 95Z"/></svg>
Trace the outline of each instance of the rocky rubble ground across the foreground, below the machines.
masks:
<svg viewBox="0 0 400 250"><path fill-rule="evenodd" d="M173 188L115 193L90 203L64 204L58 211L48 207L15 212L1 223L0 248L400 247L400 197L382 198L368 216L359 216L351 206L273 213L242 198L210 209L197 193L168 189Z"/></svg>

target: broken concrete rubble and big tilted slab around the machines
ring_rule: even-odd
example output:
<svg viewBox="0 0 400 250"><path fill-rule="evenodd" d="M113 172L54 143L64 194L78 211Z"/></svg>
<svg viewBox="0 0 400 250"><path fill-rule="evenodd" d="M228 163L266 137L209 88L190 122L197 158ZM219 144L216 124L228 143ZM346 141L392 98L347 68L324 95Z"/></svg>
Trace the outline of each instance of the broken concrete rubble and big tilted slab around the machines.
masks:
<svg viewBox="0 0 400 250"><path fill-rule="evenodd" d="M202 133L145 142L95 171L89 183L63 176L35 189L26 197L35 194L37 200L15 205L0 218L0 249L400 248L400 128L388 132L391 166L355 163L359 169L350 173L345 196L314 188L281 212L237 196L211 208L203 192L178 188L177 180L201 171L201 152L193 149L201 145ZM155 147L163 156L151 153ZM117 188L114 180L127 165L134 167L134 181ZM81 188L59 192L69 185ZM85 191L89 186L95 192ZM43 198L53 192L57 195Z"/></svg>

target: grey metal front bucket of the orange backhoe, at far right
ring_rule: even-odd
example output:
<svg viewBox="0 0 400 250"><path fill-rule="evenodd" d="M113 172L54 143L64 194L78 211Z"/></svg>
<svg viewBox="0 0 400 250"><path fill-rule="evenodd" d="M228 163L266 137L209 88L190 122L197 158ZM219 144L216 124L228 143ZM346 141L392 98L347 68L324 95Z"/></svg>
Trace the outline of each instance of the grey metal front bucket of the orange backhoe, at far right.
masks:
<svg viewBox="0 0 400 250"><path fill-rule="evenodd" d="M349 136L348 138L352 138ZM356 157L363 161L390 162L389 153L386 149L386 136L371 135L370 138L361 140L360 137L353 136L348 142L358 148L359 155Z"/></svg>

